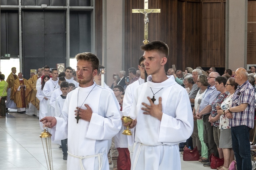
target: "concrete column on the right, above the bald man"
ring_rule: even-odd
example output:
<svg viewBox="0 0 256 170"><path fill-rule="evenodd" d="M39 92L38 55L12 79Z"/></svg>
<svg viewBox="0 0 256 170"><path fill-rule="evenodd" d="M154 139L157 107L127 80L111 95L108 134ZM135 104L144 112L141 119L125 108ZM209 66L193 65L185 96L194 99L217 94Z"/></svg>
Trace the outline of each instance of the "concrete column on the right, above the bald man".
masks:
<svg viewBox="0 0 256 170"><path fill-rule="evenodd" d="M226 69L235 71L247 63L247 0L226 2Z"/></svg>

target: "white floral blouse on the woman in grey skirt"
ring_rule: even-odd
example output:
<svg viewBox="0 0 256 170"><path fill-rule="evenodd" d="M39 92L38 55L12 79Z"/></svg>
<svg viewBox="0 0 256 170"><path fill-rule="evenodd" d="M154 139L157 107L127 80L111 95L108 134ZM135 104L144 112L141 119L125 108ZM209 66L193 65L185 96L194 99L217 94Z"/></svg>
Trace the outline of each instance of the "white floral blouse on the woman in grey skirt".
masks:
<svg viewBox="0 0 256 170"><path fill-rule="evenodd" d="M223 105L225 105L225 104L228 104L229 107L227 107L226 110L229 109L231 107L231 105L232 105L232 100L233 100L232 98L233 98L233 96L234 96L234 93L229 95L226 98L226 100L224 100L224 102L222 102L221 107ZM220 117L220 129L222 130L222 129L230 129L230 128L231 127L229 126L229 119L226 118L225 114L221 115L221 117Z"/></svg>

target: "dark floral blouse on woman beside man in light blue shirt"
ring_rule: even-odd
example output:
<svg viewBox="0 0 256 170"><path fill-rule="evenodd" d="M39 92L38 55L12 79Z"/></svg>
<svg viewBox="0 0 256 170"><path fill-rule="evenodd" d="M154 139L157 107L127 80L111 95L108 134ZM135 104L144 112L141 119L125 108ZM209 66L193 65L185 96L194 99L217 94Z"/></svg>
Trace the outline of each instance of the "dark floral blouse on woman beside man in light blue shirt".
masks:
<svg viewBox="0 0 256 170"><path fill-rule="evenodd" d="M229 94L230 93L226 91L225 93L218 94L218 96L214 99L214 101L211 103L211 117L215 117L218 115L216 106L222 104L222 102L228 97ZM214 122L212 126L218 127L219 124L220 119Z"/></svg>

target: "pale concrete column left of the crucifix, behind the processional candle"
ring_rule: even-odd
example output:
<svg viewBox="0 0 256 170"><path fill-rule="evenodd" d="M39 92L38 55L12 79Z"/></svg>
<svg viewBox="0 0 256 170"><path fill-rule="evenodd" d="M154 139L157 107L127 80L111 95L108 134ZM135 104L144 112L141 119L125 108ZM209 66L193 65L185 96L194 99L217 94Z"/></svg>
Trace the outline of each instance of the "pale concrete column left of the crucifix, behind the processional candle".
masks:
<svg viewBox="0 0 256 170"><path fill-rule="evenodd" d="M131 11L132 12L132 11ZM105 82L110 86L113 73L124 68L124 1L107 0L106 4L106 52ZM103 48L104 49L104 48ZM103 52L104 54L104 52Z"/></svg>

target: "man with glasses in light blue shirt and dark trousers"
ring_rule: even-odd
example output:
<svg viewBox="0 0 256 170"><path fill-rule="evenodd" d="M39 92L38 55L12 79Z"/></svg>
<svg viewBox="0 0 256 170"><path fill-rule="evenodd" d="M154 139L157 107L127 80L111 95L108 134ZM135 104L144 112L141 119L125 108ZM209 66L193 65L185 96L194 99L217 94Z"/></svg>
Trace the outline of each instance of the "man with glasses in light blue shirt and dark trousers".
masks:
<svg viewBox="0 0 256 170"><path fill-rule="evenodd" d="M216 90L215 87L215 78L220 76L217 72L211 72L207 78L209 86L207 91L205 92L199 109L196 112L197 119L203 119L203 140L208 148L208 159L202 160L201 163L204 163L203 166L210 166L210 154L214 153L214 156L219 156L219 152L214 142L214 135L213 135L213 127L211 123L208 121L210 113L211 113L211 103L220 93Z"/></svg>

